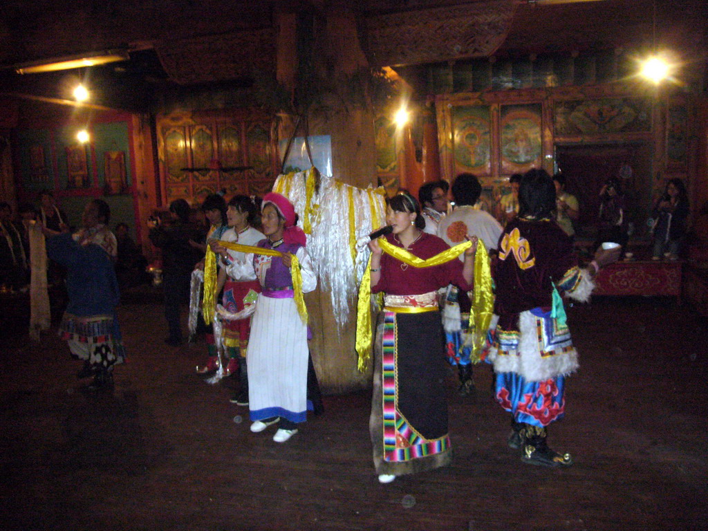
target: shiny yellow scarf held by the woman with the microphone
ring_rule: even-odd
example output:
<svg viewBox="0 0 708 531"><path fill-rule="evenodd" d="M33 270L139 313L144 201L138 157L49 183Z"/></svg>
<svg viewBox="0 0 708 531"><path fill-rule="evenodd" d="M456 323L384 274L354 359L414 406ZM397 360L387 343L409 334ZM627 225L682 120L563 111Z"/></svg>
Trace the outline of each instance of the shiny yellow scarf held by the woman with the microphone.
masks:
<svg viewBox="0 0 708 531"><path fill-rule="evenodd" d="M426 260L418 258L409 253L401 247L396 247L389 244L383 238L378 240L379 246L381 246L384 253L389 254L403 263L412 265L414 268L429 268L433 265L442 265L451 260L455 260L459 255L467 251L472 242L465 241L462 244L451 247L438 253L435 256L431 256ZM480 249L482 250L480 252ZM482 262L486 263L486 271ZM479 274L479 277L478 277ZM479 284L478 284L479 282ZM484 290L487 292L486 295L480 295L479 297L479 309L473 307L474 309L474 323L477 326L483 324L480 319L489 313L489 319L491 319L492 305L490 301L493 302L493 295L491 294L491 271L489 269L489 256L487 255L486 249L484 249L484 244L481 241L477 242L477 253L474 258L474 291L475 291L475 302L477 302L476 292L477 290ZM371 359L371 345L372 345L372 329L371 329L371 257L369 257L369 262L366 265L366 270L362 276L361 285L359 286L359 300L357 303L357 327L356 327L356 343L355 348L359 355L358 369L360 372L364 372ZM484 305L484 306L483 306ZM472 310L470 311L470 322L473 321ZM489 321L487 321L487 326L489 326Z"/></svg>

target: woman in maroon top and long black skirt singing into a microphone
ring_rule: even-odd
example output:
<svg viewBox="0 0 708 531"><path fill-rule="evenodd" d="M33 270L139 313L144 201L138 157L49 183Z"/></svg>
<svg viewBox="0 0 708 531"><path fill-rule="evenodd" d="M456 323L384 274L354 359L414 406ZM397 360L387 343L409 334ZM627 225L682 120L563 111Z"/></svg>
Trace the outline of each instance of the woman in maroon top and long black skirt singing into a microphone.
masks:
<svg viewBox="0 0 708 531"><path fill-rule="evenodd" d="M420 206L408 193L392 198L387 224L394 227L387 244L413 256L426 260L450 250L438 236L423 232ZM450 283L472 290L476 239L464 251L464 264L455 255L426 268L382 254L382 246L377 240L369 244L371 290L385 294L375 343L370 433L379 481L389 483L401 474L450 463L437 290Z"/></svg>

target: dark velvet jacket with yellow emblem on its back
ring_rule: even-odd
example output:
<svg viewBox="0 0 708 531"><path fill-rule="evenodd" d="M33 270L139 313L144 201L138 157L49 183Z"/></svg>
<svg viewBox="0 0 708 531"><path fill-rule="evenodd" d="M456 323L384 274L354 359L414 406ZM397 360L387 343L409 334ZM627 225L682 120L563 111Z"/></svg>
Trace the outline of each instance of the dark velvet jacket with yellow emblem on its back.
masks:
<svg viewBox="0 0 708 531"><path fill-rule="evenodd" d="M521 312L552 305L553 282L577 265L571 238L553 220L514 219L499 239L494 313L515 329Z"/></svg>

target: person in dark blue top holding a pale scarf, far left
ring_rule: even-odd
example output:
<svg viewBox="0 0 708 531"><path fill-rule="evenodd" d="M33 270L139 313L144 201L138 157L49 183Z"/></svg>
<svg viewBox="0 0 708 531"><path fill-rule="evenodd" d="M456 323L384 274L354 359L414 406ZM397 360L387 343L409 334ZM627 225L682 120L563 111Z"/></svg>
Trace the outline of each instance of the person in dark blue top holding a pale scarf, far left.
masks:
<svg viewBox="0 0 708 531"><path fill-rule="evenodd" d="M115 307L120 294L113 264L118 253L107 227L108 205L95 199L86 205L84 228L76 234L53 234L45 229L47 253L67 268L69 305L59 334L74 357L84 360L79 377L93 375L90 387L113 382L113 367L125 360Z"/></svg>

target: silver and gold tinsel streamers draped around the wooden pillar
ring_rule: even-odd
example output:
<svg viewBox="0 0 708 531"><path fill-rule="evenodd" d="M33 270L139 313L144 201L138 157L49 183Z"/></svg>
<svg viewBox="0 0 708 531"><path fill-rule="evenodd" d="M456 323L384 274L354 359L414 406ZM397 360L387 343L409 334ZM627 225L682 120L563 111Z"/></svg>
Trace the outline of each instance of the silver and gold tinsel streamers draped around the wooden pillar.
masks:
<svg viewBox="0 0 708 531"><path fill-rule="evenodd" d="M302 227L306 206L305 179L307 172L292 176L280 175L273 190L280 191L295 206ZM338 333L355 310L358 285L366 268L370 251L367 246L358 249L355 259L350 250L349 190L353 190L355 236L360 238L382 227L385 220L384 195L372 187L356 188L331 176L321 176L319 193L312 198L312 234L307 235L307 252L312 256L315 272L323 290L331 295ZM375 202L377 219L372 219Z"/></svg>

